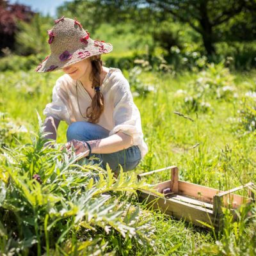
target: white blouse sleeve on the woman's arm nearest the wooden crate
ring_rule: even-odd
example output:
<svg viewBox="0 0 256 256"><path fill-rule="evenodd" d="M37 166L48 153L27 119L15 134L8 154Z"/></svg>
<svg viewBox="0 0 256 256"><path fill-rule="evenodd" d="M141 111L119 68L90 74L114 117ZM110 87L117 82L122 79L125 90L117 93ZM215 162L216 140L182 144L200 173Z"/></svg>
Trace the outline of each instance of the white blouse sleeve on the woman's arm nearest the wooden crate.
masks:
<svg viewBox="0 0 256 256"><path fill-rule="evenodd" d="M143 140L140 112L132 99L128 81L123 78L113 87L113 122L109 136L118 131L132 136L133 145Z"/></svg>

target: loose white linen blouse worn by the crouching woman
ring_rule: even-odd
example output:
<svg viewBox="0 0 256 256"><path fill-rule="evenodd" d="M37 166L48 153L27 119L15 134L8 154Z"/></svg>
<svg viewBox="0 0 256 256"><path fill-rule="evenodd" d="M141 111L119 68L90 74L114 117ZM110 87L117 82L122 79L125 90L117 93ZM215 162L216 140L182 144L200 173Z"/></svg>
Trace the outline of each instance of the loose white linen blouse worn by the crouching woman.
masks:
<svg viewBox="0 0 256 256"><path fill-rule="evenodd" d="M100 90L104 97L104 112L97 124L107 129L109 136L118 131L132 136L132 145L138 145L141 157L144 157L148 148L143 140L140 111L133 102L129 82L122 71L110 67ZM83 84L65 74L56 81L52 90L52 102L46 105L44 115L64 120L68 125L88 121L83 116L86 116L86 109L91 103L92 99Z"/></svg>

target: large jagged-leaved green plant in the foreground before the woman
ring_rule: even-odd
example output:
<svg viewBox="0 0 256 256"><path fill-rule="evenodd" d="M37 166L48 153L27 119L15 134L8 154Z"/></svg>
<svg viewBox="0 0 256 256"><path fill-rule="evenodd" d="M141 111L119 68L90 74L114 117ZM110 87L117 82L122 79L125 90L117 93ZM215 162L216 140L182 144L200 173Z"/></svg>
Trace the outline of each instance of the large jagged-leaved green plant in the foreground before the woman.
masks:
<svg viewBox="0 0 256 256"><path fill-rule="evenodd" d="M150 219L121 200L124 193L150 191L148 185L122 171L116 179L74 152L44 147L44 136L41 124L31 143L3 150L0 252L97 255L125 243L135 244L134 252L153 246Z"/></svg>

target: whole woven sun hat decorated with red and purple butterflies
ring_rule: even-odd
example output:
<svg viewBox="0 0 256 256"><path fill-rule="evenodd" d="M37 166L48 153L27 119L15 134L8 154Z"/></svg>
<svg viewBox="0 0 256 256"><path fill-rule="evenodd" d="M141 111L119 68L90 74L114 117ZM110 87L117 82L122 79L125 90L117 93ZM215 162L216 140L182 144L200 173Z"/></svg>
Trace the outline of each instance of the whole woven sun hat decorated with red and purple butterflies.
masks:
<svg viewBox="0 0 256 256"><path fill-rule="evenodd" d="M51 54L36 68L36 72L59 70L91 56L111 52L113 46L104 41L93 40L78 20L64 16L55 20L48 31Z"/></svg>

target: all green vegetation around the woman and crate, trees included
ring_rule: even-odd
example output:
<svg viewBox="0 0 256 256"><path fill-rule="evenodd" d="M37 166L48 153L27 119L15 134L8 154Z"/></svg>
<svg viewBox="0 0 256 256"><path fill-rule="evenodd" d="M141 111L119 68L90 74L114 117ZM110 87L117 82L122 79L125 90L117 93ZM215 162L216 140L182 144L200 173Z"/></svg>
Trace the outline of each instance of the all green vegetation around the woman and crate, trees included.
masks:
<svg viewBox="0 0 256 256"><path fill-rule="evenodd" d="M43 147L36 111L62 73L34 70L49 54L54 18L8 1L0 12L1 38L12 36L0 47L1 255L256 254L255 203L234 222L225 210L223 230L209 232L148 210L135 193L170 179L138 183L137 173L173 164L180 179L216 189L256 182L254 1L76 0L58 8L113 44L105 65L122 69L140 109L149 151L118 179L61 152L64 122L58 145Z"/></svg>

